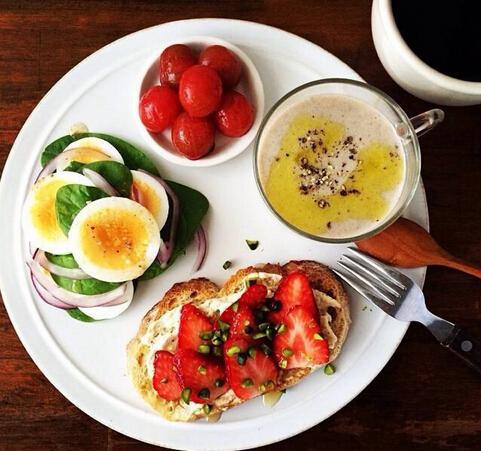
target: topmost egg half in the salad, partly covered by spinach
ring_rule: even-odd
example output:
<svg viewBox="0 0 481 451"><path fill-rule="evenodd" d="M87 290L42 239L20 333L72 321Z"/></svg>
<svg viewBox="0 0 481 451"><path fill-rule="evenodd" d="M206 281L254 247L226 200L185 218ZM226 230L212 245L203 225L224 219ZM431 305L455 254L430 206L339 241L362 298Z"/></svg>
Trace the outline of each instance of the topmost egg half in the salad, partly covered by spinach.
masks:
<svg viewBox="0 0 481 451"><path fill-rule="evenodd" d="M95 137L74 141L65 148L63 155L65 158L59 159L57 171L64 170L72 161L85 164L103 160L124 162L122 155L112 144L105 139Z"/></svg>

